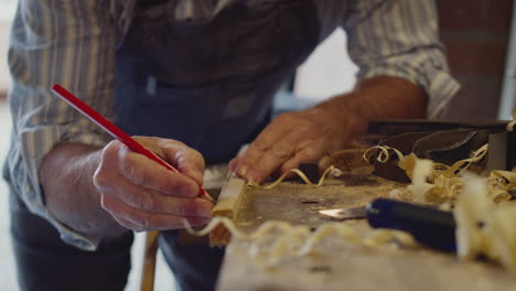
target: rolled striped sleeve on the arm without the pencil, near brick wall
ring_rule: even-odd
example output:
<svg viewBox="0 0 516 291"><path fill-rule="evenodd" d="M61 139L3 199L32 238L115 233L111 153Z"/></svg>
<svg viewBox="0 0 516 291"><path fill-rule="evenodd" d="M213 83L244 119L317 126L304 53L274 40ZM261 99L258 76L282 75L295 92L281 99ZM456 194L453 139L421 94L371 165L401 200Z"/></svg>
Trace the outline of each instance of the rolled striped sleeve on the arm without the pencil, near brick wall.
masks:
<svg viewBox="0 0 516 291"><path fill-rule="evenodd" d="M348 53L359 79L396 76L421 86L429 97L427 116L439 116L460 89L439 42L432 0L352 1L343 22Z"/></svg>

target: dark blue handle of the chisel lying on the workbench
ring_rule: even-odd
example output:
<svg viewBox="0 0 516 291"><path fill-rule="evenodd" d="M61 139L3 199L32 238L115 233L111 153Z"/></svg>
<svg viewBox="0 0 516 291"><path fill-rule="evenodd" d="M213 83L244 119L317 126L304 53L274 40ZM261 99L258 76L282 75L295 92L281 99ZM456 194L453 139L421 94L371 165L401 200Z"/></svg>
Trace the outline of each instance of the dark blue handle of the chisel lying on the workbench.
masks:
<svg viewBox="0 0 516 291"><path fill-rule="evenodd" d="M455 251L455 220L451 212L401 201L377 198L366 207L373 228L407 231L422 245Z"/></svg>

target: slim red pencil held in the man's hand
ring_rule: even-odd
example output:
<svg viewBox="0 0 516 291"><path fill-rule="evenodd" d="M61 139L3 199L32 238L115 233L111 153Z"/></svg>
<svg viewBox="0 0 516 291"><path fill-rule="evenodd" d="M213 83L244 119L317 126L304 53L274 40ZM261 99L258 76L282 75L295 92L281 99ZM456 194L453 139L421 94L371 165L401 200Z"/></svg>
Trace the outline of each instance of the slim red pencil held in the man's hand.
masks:
<svg viewBox="0 0 516 291"><path fill-rule="evenodd" d="M163 165L164 168L174 171L179 173L179 171L163 161L160 157L158 157L155 153L149 151L148 149L143 148L138 141L132 139L129 134L127 134L123 130L121 130L119 127L115 126L111 123L109 120L104 118L99 112L95 111L92 107L87 106L83 100L79 98L75 97L72 93L69 93L67 89L63 88L60 84L54 84L52 87L52 90L56 96L65 100L67 104L72 105L75 109L77 109L79 112L85 115L87 118L89 118L92 121L97 123L99 127L101 127L104 130L109 132L114 138L118 139L119 141L123 142L129 149L131 149L135 152L141 153L146 155L147 158L151 159L152 161L158 162L159 164ZM204 188L200 188L198 195L201 197L205 197L212 202L214 200Z"/></svg>

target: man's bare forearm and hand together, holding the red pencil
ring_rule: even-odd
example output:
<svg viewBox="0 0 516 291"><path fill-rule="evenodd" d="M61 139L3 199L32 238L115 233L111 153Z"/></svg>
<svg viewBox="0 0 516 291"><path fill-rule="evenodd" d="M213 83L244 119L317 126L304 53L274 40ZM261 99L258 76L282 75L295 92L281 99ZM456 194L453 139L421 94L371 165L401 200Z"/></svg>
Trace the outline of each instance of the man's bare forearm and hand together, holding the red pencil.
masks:
<svg viewBox="0 0 516 291"><path fill-rule="evenodd" d="M40 182L52 215L92 237L182 228L209 220L213 204L197 197L204 160L182 142L136 138L180 173L115 140L104 149L62 143L43 160Z"/></svg>

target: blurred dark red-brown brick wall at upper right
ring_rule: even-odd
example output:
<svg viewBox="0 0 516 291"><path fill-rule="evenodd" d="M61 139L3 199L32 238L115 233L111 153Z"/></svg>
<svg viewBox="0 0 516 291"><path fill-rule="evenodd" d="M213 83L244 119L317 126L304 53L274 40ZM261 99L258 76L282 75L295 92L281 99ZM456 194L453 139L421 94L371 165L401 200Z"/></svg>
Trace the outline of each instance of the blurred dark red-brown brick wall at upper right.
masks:
<svg viewBox="0 0 516 291"><path fill-rule="evenodd" d="M438 0L441 40L462 89L452 119L493 119L498 112L513 0Z"/></svg>

